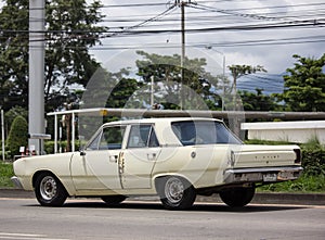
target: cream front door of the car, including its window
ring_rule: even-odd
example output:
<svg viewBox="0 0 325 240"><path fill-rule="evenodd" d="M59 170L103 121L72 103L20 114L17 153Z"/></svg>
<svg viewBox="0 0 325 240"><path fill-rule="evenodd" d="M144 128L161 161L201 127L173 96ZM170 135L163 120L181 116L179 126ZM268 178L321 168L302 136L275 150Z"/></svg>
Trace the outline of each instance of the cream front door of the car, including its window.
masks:
<svg viewBox="0 0 325 240"><path fill-rule="evenodd" d="M105 127L82 154L74 155L72 177L77 191L121 189L118 163L123 134L123 126Z"/></svg>

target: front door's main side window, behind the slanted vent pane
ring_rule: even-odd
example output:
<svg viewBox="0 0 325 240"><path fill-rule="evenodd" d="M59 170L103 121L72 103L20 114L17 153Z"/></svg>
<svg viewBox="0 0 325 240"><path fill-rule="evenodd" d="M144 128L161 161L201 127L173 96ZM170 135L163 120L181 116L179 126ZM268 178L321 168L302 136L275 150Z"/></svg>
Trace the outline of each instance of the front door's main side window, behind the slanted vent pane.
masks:
<svg viewBox="0 0 325 240"><path fill-rule="evenodd" d="M104 128L99 149L121 149L125 131L125 126L114 126Z"/></svg>

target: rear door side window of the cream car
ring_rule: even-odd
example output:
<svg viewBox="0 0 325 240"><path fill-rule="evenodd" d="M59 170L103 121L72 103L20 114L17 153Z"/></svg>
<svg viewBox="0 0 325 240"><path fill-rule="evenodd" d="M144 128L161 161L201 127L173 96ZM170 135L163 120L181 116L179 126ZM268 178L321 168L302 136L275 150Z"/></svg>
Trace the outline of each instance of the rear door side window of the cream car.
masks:
<svg viewBox="0 0 325 240"><path fill-rule="evenodd" d="M159 142L152 125L131 126L128 148L154 148L158 146Z"/></svg>

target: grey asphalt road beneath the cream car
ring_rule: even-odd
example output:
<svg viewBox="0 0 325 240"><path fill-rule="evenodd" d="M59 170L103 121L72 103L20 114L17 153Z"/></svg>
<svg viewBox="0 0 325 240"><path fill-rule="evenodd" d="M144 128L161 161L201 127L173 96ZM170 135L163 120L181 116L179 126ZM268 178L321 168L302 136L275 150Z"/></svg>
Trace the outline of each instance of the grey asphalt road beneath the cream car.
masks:
<svg viewBox="0 0 325 240"><path fill-rule="evenodd" d="M68 200L42 207L34 199L0 199L0 239L325 239L325 206L196 203L167 211L159 202Z"/></svg>

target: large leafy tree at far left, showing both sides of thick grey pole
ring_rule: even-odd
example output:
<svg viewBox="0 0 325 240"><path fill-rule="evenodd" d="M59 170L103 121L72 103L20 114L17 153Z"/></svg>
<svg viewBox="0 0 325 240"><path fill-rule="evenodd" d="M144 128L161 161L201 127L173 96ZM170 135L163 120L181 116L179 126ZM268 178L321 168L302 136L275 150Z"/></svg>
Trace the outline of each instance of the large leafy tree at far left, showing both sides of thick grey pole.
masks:
<svg viewBox="0 0 325 240"><path fill-rule="evenodd" d="M56 109L69 86L86 86L100 66L89 48L100 43L107 28L99 0L46 1L46 105ZM0 12L0 86L8 96L0 104L27 106L28 93L28 1L6 0ZM60 100L60 101L57 101Z"/></svg>

